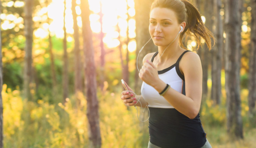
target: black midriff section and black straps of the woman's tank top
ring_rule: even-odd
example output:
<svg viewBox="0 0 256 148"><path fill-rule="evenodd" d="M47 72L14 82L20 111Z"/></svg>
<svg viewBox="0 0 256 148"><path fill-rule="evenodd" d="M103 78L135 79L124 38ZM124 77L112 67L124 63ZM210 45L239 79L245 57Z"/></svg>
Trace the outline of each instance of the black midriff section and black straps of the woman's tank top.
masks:
<svg viewBox="0 0 256 148"><path fill-rule="evenodd" d="M179 69L179 61L185 51L175 63L175 69L181 79L185 79ZM156 53L157 54L157 53ZM154 60L154 57L152 60ZM170 69L166 69L169 71ZM161 74L158 72L158 74ZM185 95L185 89L182 91ZM149 134L150 142L161 148L200 148L206 142L206 133L203 130L199 114L189 119L175 108L149 107Z"/></svg>

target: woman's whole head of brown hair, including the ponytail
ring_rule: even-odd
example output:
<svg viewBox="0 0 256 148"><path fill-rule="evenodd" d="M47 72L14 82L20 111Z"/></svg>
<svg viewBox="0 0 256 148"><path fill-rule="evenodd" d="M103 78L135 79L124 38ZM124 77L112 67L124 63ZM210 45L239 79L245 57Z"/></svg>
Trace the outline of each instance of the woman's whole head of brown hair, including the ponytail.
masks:
<svg viewBox="0 0 256 148"><path fill-rule="evenodd" d="M194 36L199 48L201 45L200 37L203 38L209 48L212 48L211 38L213 33L208 30L202 21L201 15L197 8L187 0L155 0L151 5L151 10L154 8L168 8L175 12L178 23L186 22L186 26L180 35L180 45L186 49L186 43L189 36ZM186 33L186 34L185 34ZM184 36L185 34L185 36Z"/></svg>

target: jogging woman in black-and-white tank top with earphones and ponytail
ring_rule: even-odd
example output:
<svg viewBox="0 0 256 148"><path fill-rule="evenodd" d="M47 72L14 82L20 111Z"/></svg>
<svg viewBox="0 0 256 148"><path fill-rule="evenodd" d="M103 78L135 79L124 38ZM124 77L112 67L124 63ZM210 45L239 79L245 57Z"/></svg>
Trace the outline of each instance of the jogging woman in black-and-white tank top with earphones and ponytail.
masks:
<svg viewBox="0 0 256 148"><path fill-rule="evenodd" d="M211 49L212 33L187 0L155 0L149 32L158 51L143 58L139 73L143 80L140 102L150 109L148 148L211 148L199 117L201 61L183 42L194 35L198 46L203 38ZM128 106L138 105L134 97L124 91L121 99Z"/></svg>

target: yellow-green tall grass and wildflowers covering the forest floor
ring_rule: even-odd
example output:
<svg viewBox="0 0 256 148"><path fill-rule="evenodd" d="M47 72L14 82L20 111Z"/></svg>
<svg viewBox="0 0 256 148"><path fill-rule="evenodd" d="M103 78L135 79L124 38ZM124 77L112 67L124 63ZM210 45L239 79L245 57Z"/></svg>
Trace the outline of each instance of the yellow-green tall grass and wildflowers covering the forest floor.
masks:
<svg viewBox="0 0 256 148"><path fill-rule="evenodd" d="M98 92L102 148L147 147L148 122L137 119L134 107L120 100L120 89ZM223 90L223 94L225 94ZM3 127L5 148L86 148L89 147L87 101L83 94L65 104L49 104L47 96L37 102L20 97L20 90L3 85ZM248 90L241 91L244 139L232 141L226 132L226 100L214 105L208 97L201 104L201 120L213 148L251 148L256 128L248 120ZM61 100L61 99L56 99Z"/></svg>

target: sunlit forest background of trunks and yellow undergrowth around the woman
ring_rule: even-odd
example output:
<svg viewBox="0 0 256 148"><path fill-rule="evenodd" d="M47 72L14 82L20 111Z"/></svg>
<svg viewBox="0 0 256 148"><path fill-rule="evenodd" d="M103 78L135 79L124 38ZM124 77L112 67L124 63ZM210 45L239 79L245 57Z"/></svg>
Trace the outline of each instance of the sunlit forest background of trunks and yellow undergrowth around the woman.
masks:
<svg viewBox="0 0 256 148"><path fill-rule="evenodd" d="M154 0L1 0L0 148L147 148L148 115L127 107ZM213 148L256 139L256 0L189 0L213 32L191 37L203 69L200 118ZM137 63L138 61L138 63ZM139 120L138 120L139 119Z"/></svg>

